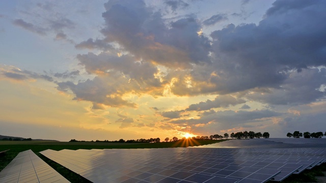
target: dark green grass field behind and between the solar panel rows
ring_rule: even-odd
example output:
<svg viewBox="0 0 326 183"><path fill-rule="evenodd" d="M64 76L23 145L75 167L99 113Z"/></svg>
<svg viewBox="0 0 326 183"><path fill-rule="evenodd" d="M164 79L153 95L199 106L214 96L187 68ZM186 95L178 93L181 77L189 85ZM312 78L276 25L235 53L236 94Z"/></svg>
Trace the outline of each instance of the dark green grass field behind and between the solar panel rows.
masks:
<svg viewBox="0 0 326 183"><path fill-rule="evenodd" d="M171 148L207 145L226 140L179 140L177 142L161 143L113 143L113 142L53 142L53 141L0 141L0 151L10 149L5 154L0 155L0 171L3 170L20 152L33 150L43 161L49 164L53 169L66 177L71 182L90 182L82 176L62 167L53 162L39 152L52 149L112 149L112 148Z"/></svg>

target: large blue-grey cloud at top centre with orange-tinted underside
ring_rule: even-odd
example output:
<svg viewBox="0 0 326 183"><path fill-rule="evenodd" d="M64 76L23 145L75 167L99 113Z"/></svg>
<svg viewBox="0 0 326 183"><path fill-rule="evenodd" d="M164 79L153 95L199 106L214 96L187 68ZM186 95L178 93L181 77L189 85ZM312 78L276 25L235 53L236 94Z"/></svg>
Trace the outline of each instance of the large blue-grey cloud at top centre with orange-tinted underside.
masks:
<svg viewBox="0 0 326 183"><path fill-rule="evenodd" d="M104 7L101 33L106 42L116 42L137 58L172 68L209 62L209 40L198 36L201 26L196 19L182 18L167 26L161 14L142 1L108 2Z"/></svg>

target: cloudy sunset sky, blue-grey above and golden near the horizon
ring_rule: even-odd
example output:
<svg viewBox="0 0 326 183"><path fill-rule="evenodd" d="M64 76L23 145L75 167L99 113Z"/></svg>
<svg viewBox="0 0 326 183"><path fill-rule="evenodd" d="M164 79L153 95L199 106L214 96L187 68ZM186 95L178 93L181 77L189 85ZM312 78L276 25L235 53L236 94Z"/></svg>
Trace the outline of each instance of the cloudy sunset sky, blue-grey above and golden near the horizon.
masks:
<svg viewBox="0 0 326 183"><path fill-rule="evenodd" d="M0 134L325 132L326 1L1 1Z"/></svg>

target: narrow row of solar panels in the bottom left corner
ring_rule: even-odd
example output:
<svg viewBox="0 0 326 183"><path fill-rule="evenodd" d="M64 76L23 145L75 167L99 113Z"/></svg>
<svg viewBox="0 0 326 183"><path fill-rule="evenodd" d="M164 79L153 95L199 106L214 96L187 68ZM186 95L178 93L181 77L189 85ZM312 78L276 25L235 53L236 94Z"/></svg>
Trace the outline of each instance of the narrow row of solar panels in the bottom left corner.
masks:
<svg viewBox="0 0 326 183"><path fill-rule="evenodd" d="M0 182L69 182L32 150L19 153L0 172Z"/></svg>

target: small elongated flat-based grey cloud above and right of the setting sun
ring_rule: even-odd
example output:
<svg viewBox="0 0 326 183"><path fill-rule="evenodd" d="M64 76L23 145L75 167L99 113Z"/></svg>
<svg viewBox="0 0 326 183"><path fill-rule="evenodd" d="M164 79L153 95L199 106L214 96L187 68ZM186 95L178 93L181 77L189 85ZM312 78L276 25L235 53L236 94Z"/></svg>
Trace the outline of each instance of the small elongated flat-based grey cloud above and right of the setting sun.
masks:
<svg viewBox="0 0 326 183"><path fill-rule="evenodd" d="M202 111L209 110L211 108L229 107L237 104L245 103L246 101L242 99L236 99L232 96L217 96L214 100L207 100L206 102L200 102L198 104L192 104L187 109L187 111Z"/></svg>

